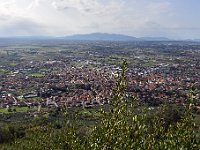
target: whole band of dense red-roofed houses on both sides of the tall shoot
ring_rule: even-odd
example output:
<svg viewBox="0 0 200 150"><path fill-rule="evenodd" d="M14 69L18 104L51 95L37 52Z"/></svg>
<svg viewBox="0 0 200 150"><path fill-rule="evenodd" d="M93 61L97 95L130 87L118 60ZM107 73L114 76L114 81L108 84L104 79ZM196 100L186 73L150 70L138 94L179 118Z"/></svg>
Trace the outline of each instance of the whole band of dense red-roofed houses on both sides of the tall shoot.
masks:
<svg viewBox="0 0 200 150"><path fill-rule="evenodd" d="M184 104L191 87L200 89L200 66L166 65L127 71L127 94L152 106ZM41 69L45 68L45 69ZM62 61L29 62L0 75L0 107L93 107L108 104L120 73L115 65L75 67ZM40 70L43 76L27 72ZM196 105L200 105L197 93Z"/></svg>

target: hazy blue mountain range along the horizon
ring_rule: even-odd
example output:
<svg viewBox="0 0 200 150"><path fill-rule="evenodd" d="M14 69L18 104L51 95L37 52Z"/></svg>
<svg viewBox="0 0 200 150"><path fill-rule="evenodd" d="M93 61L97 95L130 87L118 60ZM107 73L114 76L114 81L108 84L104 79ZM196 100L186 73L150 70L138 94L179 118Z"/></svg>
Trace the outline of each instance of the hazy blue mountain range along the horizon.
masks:
<svg viewBox="0 0 200 150"><path fill-rule="evenodd" d="M15 37L0 37L1 42L6 41L40 41L40 40L71 40L71 41L191 41L200 42L200 39L185 39L173 40L166 37L133 37L123 34L109 34L109 33L90 33L90 34L75 34L63 37L53 36L15 36Z"/></svg>

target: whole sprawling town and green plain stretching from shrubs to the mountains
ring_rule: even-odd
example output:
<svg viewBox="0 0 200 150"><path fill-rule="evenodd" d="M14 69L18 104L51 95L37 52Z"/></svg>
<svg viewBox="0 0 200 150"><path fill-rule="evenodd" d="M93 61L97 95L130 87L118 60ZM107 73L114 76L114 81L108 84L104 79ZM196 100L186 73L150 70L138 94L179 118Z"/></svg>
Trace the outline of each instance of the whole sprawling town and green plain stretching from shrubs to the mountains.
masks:
<svg viewBox="0 0 200 150"><path fill-rule="evenodd" d="M129 98L149 106L184 105L195 88L200 106L199 43L42 42L0 48L2 112L108 104L122 60L128 62Z"/></svg>

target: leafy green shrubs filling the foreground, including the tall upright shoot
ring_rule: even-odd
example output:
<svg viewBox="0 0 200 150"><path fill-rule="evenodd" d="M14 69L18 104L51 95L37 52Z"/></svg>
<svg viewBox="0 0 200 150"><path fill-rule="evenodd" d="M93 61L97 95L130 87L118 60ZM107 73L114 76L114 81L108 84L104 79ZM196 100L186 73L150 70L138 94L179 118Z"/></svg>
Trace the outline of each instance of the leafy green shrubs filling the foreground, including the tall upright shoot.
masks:
<svg viewBox="0 0 200 150"><path fill-rule="evenodd" d="M66 117L65 122L58 121L53 125L33 126L27 130L24 138L16 138L9 148L19 150L200 149L192 114L196 92L192 89L189 93L188 104L182 114L170 105L162 105L155 110L142 108L138 111L137 100L135 98L128 100L125 93L126 66L127 63L124 61L121 76L113 90L109 110L100 111L100 123L89 128L81 128L83 130L79 133L75 125L76 117L71 120ZM83 112L86 116L93 116L89 111ZM60 113L62 115L63 112ZM69 115L68 112L65 115Z"/></svg>

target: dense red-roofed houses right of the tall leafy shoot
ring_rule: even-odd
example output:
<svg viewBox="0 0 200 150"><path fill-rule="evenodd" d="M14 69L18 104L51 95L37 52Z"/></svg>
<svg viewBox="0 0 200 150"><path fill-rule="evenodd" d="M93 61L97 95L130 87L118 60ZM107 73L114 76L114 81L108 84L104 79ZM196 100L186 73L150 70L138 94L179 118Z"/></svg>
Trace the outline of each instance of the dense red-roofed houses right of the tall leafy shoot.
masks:
<svg viewBox="0 0 200 150"><path fill-rule="evenodd" d="M192 87L197 90L196 105L200 105L200 67L163 65L128 76L129 92L142 102L159 105L164 101L184 104Z"/></svg>

